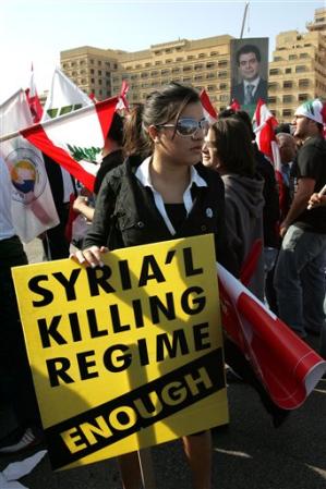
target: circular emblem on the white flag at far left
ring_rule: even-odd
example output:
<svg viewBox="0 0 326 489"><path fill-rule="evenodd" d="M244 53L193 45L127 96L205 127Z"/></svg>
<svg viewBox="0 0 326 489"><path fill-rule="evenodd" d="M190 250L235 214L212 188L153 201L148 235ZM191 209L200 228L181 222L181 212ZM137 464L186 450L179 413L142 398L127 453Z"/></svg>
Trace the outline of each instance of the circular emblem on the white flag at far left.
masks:
<svg viewBox="0 0 326 489"><path fill-rule="evenodd" d="M47 183L43 160L36 151L29 148L17 148L5 158L11 182L12 198L22 204L31 204L43 193Z"/></svg>

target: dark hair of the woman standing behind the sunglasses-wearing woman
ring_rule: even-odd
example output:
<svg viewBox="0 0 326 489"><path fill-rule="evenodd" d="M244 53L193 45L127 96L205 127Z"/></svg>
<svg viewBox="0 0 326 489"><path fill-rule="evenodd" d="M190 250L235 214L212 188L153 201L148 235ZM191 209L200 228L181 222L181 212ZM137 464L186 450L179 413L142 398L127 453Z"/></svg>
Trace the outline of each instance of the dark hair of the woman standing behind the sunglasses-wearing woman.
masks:
<svg viewBox="0 0 326 489"><path fill-rule="evenodd" d="M251 134L243 121L233 117L218 119L212 126L221 166L230 173L254 176L255 160Z"/></svg>

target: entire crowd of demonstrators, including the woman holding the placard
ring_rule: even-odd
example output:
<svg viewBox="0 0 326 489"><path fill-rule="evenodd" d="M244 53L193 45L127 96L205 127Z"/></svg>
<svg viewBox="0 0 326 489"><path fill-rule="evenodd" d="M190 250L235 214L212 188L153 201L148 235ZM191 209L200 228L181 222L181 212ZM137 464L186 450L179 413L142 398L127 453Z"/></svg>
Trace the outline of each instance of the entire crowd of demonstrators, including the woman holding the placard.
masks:
<svg viewBox="0 0 326 489"><path fill-rule="evenodd" d="M109 249L213 233L217 261L241 278L250 254L258 249L247 288L300 338L318 335L326 358L323 113L323 103L312 100L298 108L292 124L276 129L282 168L277 183L246 112L227 110L209 125L194 88L173 82L164 86L124 121L116 113L95 195L80 195L73 204L87 220L85 236L70 250L64 242L56 258L69 257L73 249L74 260L95 267ZM12 453L36 442L41 428L10 276L11 267L27 260L10 219L9 174L2 160L0 186L0 388L19 424L15 433L0 441L0 453ZM67 218L61 217L61 245ZM126 220L130 225L124 225ZM225 354L279 426L287 413L273 403L228 338ZM13 381L4 384L3 379ZM14 386L12 392L8 386ZM209 431L184 437L183 447L193 487L210 489ZM136 455L121 456L120 468L124 489L138 489Z"/></svg>

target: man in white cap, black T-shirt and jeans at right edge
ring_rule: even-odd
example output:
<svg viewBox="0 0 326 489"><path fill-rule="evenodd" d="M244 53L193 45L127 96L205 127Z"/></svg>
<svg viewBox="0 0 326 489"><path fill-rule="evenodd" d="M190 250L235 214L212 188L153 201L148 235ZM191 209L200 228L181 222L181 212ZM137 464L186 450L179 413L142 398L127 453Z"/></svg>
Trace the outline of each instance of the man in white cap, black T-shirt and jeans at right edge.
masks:
<svg viewBox="0 0 326 489"><path fill-rule="evenodd" d="M305 338L325 328L326 208L307 209L311 195L326 183L326 143L321 100L310 100L294 114L294 137L300 138L292 174L294 196L280 224L283 239L275 271L280 318Z"/></svg>

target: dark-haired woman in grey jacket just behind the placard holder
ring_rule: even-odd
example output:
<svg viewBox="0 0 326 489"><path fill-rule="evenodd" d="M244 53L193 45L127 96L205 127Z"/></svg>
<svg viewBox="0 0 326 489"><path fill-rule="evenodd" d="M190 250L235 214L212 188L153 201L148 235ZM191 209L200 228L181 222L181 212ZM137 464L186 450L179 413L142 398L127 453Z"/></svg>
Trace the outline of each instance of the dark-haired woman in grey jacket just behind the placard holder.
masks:
<svg viewBox="0 0 326 489"><path fill-rule="evenodd" d="M227 228L241 268L254 242L264 240L264 180L256 172L251 135L242 121L219 119L209 129L203 147L203 163L216 170L224 181ZM247 288L264 299L263 254Z"/></svg>

